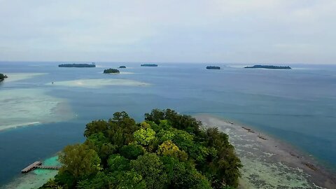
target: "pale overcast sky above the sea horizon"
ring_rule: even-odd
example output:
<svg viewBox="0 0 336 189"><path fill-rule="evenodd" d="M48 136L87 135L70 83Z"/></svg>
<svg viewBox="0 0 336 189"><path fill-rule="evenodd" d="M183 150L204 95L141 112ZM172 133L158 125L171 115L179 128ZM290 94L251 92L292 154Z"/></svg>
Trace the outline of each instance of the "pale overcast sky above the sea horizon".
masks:
<svg viewBox="0 0 336 189"><path fill-rule="evenodd" d="M0 0L0 60L336 64L335 0Z"/></svg>

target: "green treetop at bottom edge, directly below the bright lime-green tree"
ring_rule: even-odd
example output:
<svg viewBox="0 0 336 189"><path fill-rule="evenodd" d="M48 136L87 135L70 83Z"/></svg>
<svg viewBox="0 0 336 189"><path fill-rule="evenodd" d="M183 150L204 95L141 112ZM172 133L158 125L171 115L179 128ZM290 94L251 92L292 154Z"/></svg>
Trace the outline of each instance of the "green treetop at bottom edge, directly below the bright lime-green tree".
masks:
<svg viewBox="0 0 336 189"><path fill-rule="evenodd" d="M163 163L155 153L145 153L137 160L132 160L131 167L142 176L147 188L165 188L169 183L167 174L163 170Z"/></svg>

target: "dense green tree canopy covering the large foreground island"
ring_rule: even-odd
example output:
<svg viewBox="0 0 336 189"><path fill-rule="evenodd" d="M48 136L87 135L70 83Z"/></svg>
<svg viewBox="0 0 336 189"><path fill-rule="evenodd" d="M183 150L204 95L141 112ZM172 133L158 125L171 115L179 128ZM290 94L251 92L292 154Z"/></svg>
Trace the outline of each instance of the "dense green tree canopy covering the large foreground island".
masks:
<svg viewBox="0 0 336 189"><path fill-rule="evenodd" d="M41 188L237 188L241 162L228 135L191 116L154 109L136 123L126 112L87 123L83 144L59 153Z"/></svg>

